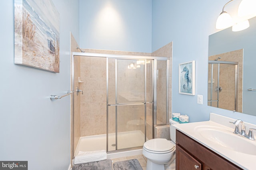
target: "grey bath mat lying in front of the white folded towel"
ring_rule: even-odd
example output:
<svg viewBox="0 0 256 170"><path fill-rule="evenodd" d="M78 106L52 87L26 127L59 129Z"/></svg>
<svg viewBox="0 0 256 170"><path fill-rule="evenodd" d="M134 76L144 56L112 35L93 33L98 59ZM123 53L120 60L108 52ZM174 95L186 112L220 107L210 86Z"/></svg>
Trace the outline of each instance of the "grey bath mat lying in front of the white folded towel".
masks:
<svg viewBox="0 0 256 170"><path fill-rule="evenodd" d="M110 159L75 164L72 170L112 170L112 161Z"/></svg>

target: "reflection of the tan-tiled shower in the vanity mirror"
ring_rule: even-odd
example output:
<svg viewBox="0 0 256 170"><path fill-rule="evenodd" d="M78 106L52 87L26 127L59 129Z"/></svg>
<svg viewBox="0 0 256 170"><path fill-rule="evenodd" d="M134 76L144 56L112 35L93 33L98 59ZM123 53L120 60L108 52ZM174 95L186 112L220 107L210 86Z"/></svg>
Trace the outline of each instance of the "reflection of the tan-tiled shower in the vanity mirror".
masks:
<svg viewBox="0 0 256 170"><path fill-rule="evenodd" d="M243 111L244 49L208 58L208 106Z"/></svg>

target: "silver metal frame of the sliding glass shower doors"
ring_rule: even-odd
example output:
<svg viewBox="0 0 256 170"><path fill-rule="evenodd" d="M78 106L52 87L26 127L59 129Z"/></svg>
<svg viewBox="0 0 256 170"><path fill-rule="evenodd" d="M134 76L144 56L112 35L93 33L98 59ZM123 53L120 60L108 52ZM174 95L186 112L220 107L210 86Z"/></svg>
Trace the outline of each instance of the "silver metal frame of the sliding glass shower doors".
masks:
<svg viewBox="0 0 256 170"><path fill-rule="evenodd" d="M157 76L157 72L154 71L156 70L157 67L157 61L166 61L166 124L160 124L160 125L167 125L167 119L168 119L168 115L169 115L169 109L168 109L168 101L169 101L169 97L168 97L168 84L169 84L169 70L170 70L170 59L168 57L154 57L154 56L138 56L138 55L113 55L113 54L102 54L102 53L81 53L81 52L72 52L72 68L71 68L71 88L73 90L73 92L75 91L74 88L74 56L86 56L86 57L106 57L106 81L107 81L107 99L106 99L106 109L107 109L107 115L106 115L106 151L107 153L113 153L113 152L120 152L123 150L134 150L134 149L138 149L138 148L142 148L142 147L133 147L133 148L128 148L128 149L116 149L116 150L112 150L112 151L108 151L108 59L128 59L128 60L144 60L145 61L145 81L146 81L146 60L150 60L153 61L153 66L152 66L152 137L154 138L154 127L157 124L156 122L156 111L157 111L157 107L156 107L156 76ZM145 89L146 90L146 82L144 83L145 85ZM144 92L146 95L146 91ZM74 95L74 94L73 94ZM145 99L146 100L146 99ZM144 101L144 106L146 108L146 102ZM72 117L71 117L71 152L72 152L72 157L74 158L74 96L72 97ZM135 104L136 105L136 104ZM137 104L138 105L138 104ZM145 109L145 117L146 117L146 109ZM145 119L145 142L146 142L146 119ZM116 131L117 134L117 131ZM117 139L116 139L117 140Z"/></svg>

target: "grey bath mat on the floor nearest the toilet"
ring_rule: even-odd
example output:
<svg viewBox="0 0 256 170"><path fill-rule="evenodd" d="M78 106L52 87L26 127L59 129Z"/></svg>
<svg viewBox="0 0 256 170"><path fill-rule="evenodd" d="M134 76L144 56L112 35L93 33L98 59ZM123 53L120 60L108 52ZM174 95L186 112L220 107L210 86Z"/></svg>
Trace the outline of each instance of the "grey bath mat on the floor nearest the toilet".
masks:
<svg viewBox="0 0 256 170"><path fill-rule="evenodd" d="M115 162L113 168L114 170L142 170L138 159Z"/></svg>

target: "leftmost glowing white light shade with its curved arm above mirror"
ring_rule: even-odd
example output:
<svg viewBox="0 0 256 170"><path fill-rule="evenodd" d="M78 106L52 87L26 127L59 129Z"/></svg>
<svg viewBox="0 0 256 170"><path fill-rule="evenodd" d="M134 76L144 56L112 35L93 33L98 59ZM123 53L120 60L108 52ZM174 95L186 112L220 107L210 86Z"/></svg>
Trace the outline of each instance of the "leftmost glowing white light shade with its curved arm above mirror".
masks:
<svg viewBox="0 0 256 170"><path fill-rule="evenodd" d="M231 27L232 25L234 25L234 21L231 18L231 16L226 11L224 11L224 8L226 7L226 5L232 1L233 0L230 0L222 8L222 12L220 13L220 16L218 17L218 19L216 21L216 29L225 29L225 28L228 28L228 27Z"/></svg>

